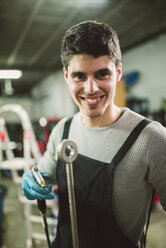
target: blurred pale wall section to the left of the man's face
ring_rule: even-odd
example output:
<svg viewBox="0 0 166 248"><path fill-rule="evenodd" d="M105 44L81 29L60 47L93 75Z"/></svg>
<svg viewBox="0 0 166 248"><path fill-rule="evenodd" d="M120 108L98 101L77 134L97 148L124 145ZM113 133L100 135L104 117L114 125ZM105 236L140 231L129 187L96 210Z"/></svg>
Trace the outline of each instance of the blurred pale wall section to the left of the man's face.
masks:
<svg viewBox="0 0 166 248"><path fill-rule="evenodd" d="M75 112L75 105L65 83L63 72L59 71L47 77L36 86L33 95L33 116L40 118L61 118Z"/></svg>

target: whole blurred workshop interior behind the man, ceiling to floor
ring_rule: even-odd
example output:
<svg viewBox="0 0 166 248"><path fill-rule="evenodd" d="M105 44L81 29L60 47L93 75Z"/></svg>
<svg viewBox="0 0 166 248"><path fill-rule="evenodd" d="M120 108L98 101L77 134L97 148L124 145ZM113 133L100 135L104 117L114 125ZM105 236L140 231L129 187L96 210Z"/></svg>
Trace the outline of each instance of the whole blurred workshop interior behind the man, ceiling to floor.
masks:
<svg viewBox="0 0 166 248"><path fill-rule="evenodd" d="M85 20L112 25L123 64L116 103L166 126L165 13L164 0L0 0L0 70L22 74L0 77L0 247L46 247L36 202L24 199L20 179L56 123L78 111L60 61L66 29ZM53 238L58 202L48 207ZM165 248L165 230L156 195L147 248Z"/></svg>

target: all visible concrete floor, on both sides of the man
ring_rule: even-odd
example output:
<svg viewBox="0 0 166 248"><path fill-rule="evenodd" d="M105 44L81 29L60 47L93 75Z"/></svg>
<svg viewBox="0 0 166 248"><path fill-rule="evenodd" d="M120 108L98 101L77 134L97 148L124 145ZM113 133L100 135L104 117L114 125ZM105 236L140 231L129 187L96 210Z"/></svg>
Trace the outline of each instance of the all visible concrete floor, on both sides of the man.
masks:
<svg viewBox="0 0 166 248"><path fill-rule="evenodd" d="M9 178L2 178L1 184L8 188L4 199L4 216L7 229L3 233L2 248L25 248L25 218L23 205L18 201L17 187ZM44 233L43 229L40 229ZM46 248L45 241L38 241L33 248ZM166 215L160 206L153 209L147 235L146 248L166 248Z"/></svg>

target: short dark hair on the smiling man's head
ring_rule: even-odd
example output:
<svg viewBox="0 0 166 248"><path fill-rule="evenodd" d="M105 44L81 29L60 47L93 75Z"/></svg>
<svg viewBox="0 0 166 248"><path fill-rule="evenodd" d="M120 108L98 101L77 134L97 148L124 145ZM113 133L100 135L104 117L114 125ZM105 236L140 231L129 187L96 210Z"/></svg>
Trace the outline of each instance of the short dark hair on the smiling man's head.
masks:
<svg viewBox="0 0 166 248"><path fill-rule="evenodd" d="M85 21L74 25L66 31L62 40L61 60L66 69L77 54L89 54L94 58L108 55L117 67L121 62L118 36L105 23Z"/></svg>

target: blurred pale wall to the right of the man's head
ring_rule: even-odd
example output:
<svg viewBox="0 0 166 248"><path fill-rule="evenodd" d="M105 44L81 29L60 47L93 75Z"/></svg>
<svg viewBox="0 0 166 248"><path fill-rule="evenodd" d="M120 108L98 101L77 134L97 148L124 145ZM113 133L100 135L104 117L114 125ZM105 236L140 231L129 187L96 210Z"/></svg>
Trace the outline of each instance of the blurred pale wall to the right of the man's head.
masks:
<svg viewBox="0 0 166 248"><path fill-rule="evenodd" d="M141 74L129 95L147 97L151 111L160 109L162 99L166 99L166 35L126 52L122 63L124 74L133 70Z"/></svg>

